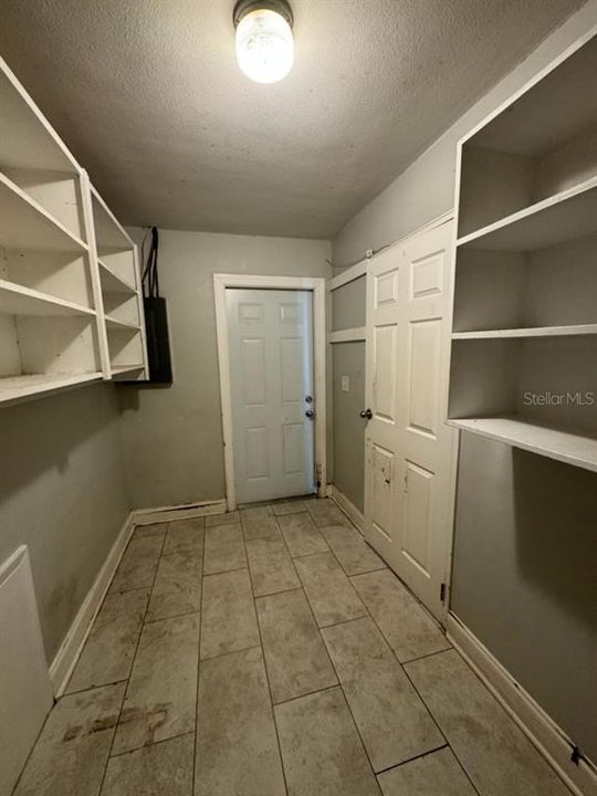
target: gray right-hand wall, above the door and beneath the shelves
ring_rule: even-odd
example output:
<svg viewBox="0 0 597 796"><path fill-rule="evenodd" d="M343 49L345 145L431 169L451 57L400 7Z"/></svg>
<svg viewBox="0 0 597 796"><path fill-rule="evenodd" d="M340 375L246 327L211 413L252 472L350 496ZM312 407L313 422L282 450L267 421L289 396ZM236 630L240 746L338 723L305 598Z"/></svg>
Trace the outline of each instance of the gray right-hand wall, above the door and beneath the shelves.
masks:
<svg viewBox="0 0 597 796"><path fill-rule="evenodd" d="M455 144L594 24L591 0L484 96L333 242L336 265L398 240L449 210ZM547 471L549 480L547 480ZM557 483L562 494L553 489ZM595 476L513 457L499 442L463 434L451 607L562 727L597 760L588 700L595 685ZM552 491L555 494L552 494ZM574 506L566 492L584 501ZM588 501L588 503L587 503ZM596 558L593 547L593 561Z"/></svg>

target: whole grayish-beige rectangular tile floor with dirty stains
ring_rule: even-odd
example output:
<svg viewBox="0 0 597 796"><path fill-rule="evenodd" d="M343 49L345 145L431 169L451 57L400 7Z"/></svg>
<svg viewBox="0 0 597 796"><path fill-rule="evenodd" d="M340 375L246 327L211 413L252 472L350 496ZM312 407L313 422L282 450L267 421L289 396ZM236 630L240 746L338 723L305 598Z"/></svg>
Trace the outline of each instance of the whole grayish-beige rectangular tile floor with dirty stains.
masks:
<svg viewBox="0 0 597 796"><path fill-rule="evenodd" d="M137 527L15 796L569 796L331 501Z"/></svg>

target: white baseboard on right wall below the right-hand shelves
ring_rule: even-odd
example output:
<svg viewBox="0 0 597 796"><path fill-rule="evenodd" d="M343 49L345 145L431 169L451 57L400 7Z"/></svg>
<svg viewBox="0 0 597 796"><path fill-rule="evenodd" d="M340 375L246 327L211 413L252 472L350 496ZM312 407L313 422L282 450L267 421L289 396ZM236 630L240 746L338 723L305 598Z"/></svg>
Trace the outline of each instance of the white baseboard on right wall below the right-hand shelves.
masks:
<svg viewBox="0 0 597 796"><path fill-rule="evenodd" d="M576 796L596 796L597 769L584 760L570 760L573 743L566 733L528 694L452 612L448 638L524 734Z"/></svg>

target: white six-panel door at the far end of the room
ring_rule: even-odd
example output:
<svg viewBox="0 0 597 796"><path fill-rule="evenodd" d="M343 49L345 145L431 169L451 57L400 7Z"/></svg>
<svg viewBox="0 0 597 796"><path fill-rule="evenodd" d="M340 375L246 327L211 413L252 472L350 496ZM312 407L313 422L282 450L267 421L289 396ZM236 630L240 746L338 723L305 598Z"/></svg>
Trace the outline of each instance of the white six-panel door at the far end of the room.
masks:
<svg viewBox="0 0 597 796"><path fill-rule="evenodd" d="M310 291L226 291L239 503L315 491Z"/></svg>

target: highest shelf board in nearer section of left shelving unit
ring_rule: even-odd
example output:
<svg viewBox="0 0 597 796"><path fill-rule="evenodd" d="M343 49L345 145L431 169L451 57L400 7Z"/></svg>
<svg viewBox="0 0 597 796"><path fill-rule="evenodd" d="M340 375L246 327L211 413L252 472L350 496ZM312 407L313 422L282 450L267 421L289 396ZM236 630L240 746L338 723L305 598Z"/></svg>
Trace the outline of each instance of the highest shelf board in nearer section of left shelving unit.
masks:
<svg viewBox="0 0 597 796"><path fill-rule="evenodd" d="M0 244L7 249L31 249L83 253L87 245L69 232L34 199L0 172Z"/></svg>

